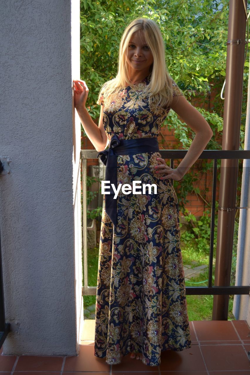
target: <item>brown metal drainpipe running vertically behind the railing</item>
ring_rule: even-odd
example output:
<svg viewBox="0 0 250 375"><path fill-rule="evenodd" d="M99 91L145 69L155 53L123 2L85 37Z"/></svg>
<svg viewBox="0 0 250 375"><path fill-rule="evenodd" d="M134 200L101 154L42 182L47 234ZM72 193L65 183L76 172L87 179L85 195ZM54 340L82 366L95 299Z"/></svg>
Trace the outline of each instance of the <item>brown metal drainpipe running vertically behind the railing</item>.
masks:
<svg viewBox="0 0 250 375"><path fill-rule="evenodd" d="M222 150L239 150L247 0L229 1ZM238 160L221 159L215 286L229 286ZM215 295L212 320L227 320L229 295Z"/></svg>

